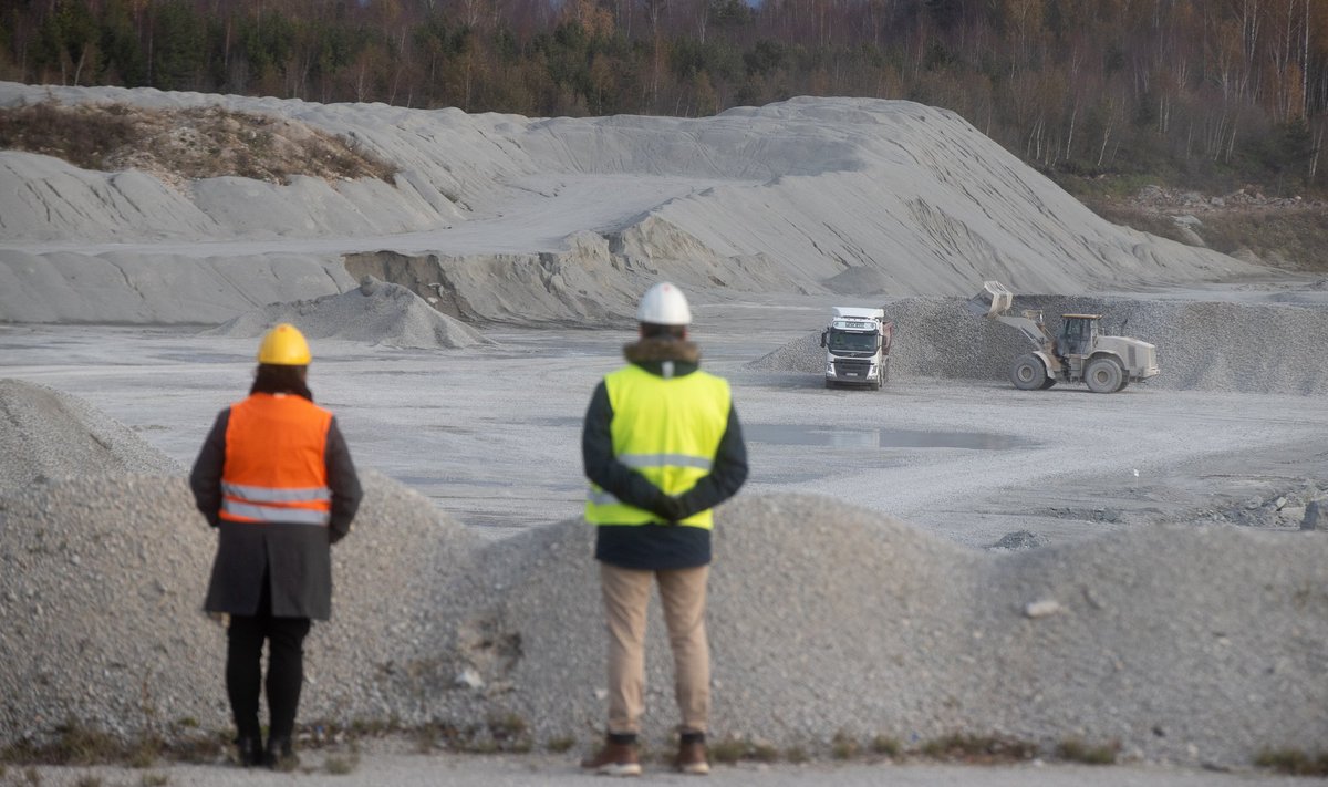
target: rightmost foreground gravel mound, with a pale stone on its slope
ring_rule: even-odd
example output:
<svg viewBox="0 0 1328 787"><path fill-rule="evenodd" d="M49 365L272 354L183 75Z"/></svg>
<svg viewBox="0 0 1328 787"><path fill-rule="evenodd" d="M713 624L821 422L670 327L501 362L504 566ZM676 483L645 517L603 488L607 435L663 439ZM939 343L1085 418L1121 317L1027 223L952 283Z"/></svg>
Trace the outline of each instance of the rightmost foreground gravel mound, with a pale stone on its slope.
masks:
<svg viewBox="0 0 1328 787"><path fill-rule="evenodd" d="M968 718L1044 742L1120 740L1150 760L1320 751L1325 558L1323 533L1194 525L999 557L972 604L985 645L971 675L987 695Z"/></svg>

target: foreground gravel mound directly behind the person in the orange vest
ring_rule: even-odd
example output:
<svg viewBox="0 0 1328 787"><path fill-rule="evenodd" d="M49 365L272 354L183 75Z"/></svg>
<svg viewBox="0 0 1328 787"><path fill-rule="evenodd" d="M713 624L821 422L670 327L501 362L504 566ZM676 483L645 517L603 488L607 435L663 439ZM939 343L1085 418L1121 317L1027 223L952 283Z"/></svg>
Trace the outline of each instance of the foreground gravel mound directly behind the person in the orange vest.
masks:
<svg viewBox="0 0 1328 787"><path fill-rule="evenodd" d="M308 642L301 717L422 721L434 698L418 681L452 677L440 589L471 537L378 473L364 487L333 550L333 619ZM7 499L0 739L69 718L121 734L190 717L226 729L224 633L201 612L214 550L182 479L70 479Z"/></svg>

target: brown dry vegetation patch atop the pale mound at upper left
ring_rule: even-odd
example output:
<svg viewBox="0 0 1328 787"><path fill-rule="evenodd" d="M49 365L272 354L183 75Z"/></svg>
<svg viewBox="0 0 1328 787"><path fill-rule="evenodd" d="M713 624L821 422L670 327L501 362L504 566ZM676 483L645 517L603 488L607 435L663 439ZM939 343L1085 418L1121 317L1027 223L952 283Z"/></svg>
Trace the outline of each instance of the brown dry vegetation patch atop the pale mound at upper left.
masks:
<svg viewBox="0 0 1328 787"><path fill-rule="evenodd" d="M145 109L42 101L0 108L0 149L41 153L89 170L138 169L173 185L234 175L392 181L396 168L299 121L220 106Z"/></svg>

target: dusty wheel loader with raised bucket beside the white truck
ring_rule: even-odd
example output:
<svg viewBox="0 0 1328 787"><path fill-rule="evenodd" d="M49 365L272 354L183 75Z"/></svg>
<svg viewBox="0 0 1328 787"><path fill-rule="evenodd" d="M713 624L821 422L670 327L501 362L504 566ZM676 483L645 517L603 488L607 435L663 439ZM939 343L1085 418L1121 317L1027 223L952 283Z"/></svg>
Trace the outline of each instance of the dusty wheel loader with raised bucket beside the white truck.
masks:
<svg viewBox="0 0 1328 787"><path fill-rule="evenodd" d="M1015 294L1000 282L983 282L983 291L968 300L968 310L1013 326L1032 342L1033 351L1015 359L1009 370L1016 388L1033 391L1084 382L1094 394L1114 394L1158 374L1157 347L1139 339L1104 335L1100 314L1064 314L1060 330L1052 334L1041 310L1005 314L1013 302Z"/></svg>

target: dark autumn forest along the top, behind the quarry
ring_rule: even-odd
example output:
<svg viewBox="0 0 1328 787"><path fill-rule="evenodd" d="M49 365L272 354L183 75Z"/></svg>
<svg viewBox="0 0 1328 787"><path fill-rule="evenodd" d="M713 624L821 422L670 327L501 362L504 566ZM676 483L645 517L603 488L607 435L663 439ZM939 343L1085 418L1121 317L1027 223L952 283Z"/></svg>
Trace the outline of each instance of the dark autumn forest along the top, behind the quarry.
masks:
<svg viewBox="0 0 1328 787"><path fill-rule="evenodd" d="M527 117L908 98L1058 179L1328 191L1328 0L0 0L0 78Z"/></svg>

